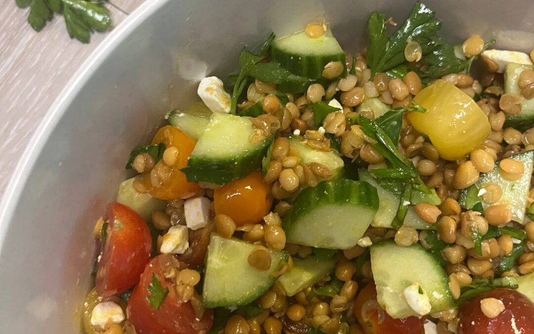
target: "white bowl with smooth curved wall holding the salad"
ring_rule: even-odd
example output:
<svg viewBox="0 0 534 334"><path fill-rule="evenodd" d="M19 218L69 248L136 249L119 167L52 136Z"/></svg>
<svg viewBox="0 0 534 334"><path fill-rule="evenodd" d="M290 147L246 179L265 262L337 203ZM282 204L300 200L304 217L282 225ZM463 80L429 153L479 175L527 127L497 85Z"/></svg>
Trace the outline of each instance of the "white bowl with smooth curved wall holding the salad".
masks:
<svg viewBox="0 0 534 334"><path fill-rule="evenodd" d="M498 38L530 51L530 1L426 3L442 36ZM115 29L54 103L22 154L0 207L0 332L74 333L92 277L96 219L170 107L197 99L207 74L229 73L245 43L281 36L325 15L347 50L366 42L372 11L402 22L412 1L148 0ZM28 97L32 98L32 97Z"/></svg>

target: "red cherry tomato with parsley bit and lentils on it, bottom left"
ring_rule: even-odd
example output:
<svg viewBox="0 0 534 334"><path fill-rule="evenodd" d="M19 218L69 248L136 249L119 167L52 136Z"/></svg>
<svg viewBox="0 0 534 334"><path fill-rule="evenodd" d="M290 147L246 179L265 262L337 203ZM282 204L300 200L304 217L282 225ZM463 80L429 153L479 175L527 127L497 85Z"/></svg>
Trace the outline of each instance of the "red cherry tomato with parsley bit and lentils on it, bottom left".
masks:
<svg viewBox="0 0 534 334"><path fill-rule="evenodd" d="M195 315L191 302L180 302L176 298L173 283L164 276L165 268L179 266L178 260L170 254L158 255L146 266L139 284L133 289L128 300L128 319L137 334L200 334L207 333L213 324L213 312L205 309L200 320ZM154 309L147 301L148 285L155 274L163 289L169 294L159 309Z"/></svg>

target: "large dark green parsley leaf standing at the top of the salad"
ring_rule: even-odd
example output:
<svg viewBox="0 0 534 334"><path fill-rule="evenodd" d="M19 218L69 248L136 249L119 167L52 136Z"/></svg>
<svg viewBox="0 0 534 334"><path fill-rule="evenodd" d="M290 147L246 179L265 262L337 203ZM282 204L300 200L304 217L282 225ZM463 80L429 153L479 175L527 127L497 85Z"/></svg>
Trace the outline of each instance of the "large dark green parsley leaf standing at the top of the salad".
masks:
<svg viewBox="0 0 534 334"><path fill-rule="evenodd" d="M404 48L409 41L419 43L423 55L425 55L425 51L434 50L436 43L433 37L441 28L441 21L435 19L434 16L434 11L417 2L402 26L388 38L384 14L373 13L367 21L369 34L367 63L371 65L372 75L386 72L388 69L404 63L406 61Z"/></svg>

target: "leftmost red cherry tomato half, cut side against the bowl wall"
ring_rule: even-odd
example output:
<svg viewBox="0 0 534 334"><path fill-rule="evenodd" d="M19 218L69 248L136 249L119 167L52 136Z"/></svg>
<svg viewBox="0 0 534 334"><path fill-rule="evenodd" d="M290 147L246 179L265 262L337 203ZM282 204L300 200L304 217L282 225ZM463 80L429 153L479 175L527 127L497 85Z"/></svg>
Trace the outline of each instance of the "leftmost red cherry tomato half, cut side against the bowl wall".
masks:
<svg viewBox="0 0 534 334"><path fill-rule="evenodd" d="M98 262L96 289L99 296L110 297L139 282L150 261L152 237L139 214L120 203L108 204L104 222L107 238Z"/></svg>

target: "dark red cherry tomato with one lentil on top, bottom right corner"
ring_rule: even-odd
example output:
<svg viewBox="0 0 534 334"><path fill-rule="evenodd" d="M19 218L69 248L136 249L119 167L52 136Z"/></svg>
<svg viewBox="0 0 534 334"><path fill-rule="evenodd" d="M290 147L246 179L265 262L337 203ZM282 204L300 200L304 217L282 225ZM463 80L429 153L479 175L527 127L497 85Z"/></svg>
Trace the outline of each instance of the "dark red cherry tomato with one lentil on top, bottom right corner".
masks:
<svg viewBox="0 0 534 334"><path fill-rule="evenodd" d="M494 318L482 313L484 298L497 298L505 309ZM510 289L494 289L468 300L460 306L460 333L462 334L516 334L534 333L534 304L523 294Z"/></svg>

